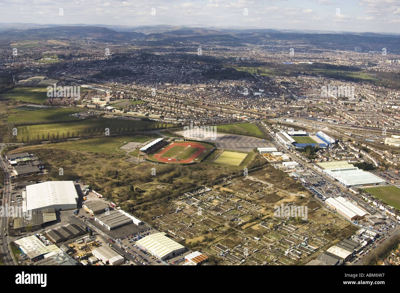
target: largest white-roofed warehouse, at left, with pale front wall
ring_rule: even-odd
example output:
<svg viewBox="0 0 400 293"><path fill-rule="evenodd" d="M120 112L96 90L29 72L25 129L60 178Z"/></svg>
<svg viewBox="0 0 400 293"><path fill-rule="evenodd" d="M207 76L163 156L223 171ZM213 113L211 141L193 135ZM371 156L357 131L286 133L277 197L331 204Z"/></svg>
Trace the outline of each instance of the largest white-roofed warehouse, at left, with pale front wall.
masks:
<svg viewBox="0 0 400 293"><path fill-rule="evenodd" d="M72 181L47 181L26 186L22 198L26 199L26 204L22 206L24 212L42 209L62 211L76 209L79 196Z"/></svg>

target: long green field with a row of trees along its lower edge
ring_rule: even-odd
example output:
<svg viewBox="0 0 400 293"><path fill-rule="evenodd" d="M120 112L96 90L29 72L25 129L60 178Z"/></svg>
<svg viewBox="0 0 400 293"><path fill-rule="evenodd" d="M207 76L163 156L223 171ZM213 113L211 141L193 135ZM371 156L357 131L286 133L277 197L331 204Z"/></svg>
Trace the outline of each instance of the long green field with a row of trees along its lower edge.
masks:
<svg viewBox="0 0 400 293"><path fill-rule="evenodd" d="M42 135L47 139L47 134L51 138L52 134L56 137L57 133L60 138L62 138L63 133L64 137L67 138L68 132L70 133L69 137L72 138L72 132L74 133L74 137L76 137L78 132L79 134L82 134L82 132L84 134L91 134L93 131L96 134L96 130L98 134L100 132L104 134L105 128L110 129L110 135L112 136L120 132L122 133L124 130L125 132L152 130L155 129L156 125L157 123L142 120L117 120L112 118L92 118L78 122L24 125L17 126L17 140L22 141L23 137L24 142L26 142L28 135L31 139L36 139L37 135L39 135L40 140L42 140Z"/></svg>

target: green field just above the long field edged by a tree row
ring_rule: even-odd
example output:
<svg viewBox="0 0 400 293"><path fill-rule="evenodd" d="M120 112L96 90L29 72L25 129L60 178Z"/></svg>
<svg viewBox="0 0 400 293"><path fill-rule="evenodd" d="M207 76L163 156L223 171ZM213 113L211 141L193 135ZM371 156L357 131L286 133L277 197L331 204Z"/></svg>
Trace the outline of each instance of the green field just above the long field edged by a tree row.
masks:
<svg viewBox="0 0 400 293"><path fill-rule="evenodd" d="M8 116L8 122L19 124L27 122L43 122L46 123L52 120L71 120L76 121L79 118L70 117L68 115L77 113L76 110L68 108L43 108L36 111L26 111L12 109Z"/></svg>

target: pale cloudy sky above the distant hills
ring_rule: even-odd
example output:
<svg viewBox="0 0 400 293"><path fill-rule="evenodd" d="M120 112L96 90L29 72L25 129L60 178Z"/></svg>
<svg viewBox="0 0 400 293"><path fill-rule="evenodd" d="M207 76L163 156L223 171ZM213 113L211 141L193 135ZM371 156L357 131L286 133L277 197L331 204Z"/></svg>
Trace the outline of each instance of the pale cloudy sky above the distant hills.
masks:
<svg viewBox="0 0 400 293"><path fill-rule="evenodd" d="M2 23L398 33L400 0L1 0Z"/></svg>

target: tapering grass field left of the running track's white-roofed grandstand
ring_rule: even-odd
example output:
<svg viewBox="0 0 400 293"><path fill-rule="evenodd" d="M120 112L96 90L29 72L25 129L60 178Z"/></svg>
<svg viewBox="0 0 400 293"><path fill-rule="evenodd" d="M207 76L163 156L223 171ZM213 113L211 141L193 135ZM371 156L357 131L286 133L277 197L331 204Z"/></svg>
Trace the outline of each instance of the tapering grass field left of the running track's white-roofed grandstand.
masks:
<svg viewBox="0 0 400 293"><path fill-rule="evenodd" d="M154 137L156 138L156 137ZM34 146L35 149L67 149L70 151L92 151L98 153L119 153L123 151L119 149L127 142L146 142L150 140L148 136L122 136L118 138L92 138L87 140L68 140L59 144L42 144ZM22 147L21 150L30 149L32 146Z"/></svg>

